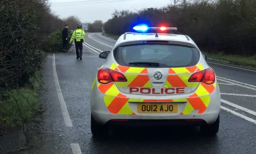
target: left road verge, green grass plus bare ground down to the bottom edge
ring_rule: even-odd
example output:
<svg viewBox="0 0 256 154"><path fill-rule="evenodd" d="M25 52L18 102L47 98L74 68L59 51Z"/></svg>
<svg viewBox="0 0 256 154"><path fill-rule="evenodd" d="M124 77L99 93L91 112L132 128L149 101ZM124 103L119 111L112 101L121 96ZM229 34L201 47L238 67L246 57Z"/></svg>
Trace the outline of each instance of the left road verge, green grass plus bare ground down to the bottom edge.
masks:
<svg viewBox="0 0 256 154"><path fill-rule="evenodd" d="M18 152L28 148L27 124L40 109L40 81L41 72L37 71L30 78L30 84L7 92L6 96L9 98L1 102L0 112L4 113L4 117L0 117L0 144L3 145L0 147L1 151Z"/></svg>

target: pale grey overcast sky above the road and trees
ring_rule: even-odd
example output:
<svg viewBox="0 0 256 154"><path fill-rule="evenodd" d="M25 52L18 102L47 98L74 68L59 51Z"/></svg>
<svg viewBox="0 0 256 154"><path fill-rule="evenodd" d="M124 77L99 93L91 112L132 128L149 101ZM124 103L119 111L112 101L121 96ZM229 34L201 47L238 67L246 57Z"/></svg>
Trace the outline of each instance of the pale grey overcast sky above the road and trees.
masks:
<svg viewBox="0 0 256 154"><path fill-rule="evenodd" d="M50 2L52 12L60 18L76 15L82 22L93 22L97 19L105 22L111 18L115 9L136 11L143 8L159 8L170 4L171 0L50 0Z"/></svg>

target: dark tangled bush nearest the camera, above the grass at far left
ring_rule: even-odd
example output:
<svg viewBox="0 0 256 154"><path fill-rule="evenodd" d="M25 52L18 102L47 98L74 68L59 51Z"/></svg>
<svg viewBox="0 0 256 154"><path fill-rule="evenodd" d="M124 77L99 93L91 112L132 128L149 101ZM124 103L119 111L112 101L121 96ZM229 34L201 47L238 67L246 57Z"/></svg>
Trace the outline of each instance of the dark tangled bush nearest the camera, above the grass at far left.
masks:
<svg viewBox="0 0 256 154"><path fill-rule="evenodd" d="M1 2L5 9L0 7L0 95L28 83L42 63L36 42L38 16L25 4L10 5L15 2L5 0Z"/></svg>

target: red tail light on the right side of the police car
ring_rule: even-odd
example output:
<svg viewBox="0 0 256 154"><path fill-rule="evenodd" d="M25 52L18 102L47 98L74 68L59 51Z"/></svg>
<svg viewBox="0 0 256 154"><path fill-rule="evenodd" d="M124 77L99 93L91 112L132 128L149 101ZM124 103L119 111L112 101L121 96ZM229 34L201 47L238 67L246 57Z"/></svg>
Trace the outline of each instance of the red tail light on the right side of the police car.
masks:
<svg viewBox="0 0 256 154"><path fill-rule="evenodd" d="M208 85L213 84L215 82L215 73L211 68L207 68L192 74L188 82L204 82Z"/></svg>

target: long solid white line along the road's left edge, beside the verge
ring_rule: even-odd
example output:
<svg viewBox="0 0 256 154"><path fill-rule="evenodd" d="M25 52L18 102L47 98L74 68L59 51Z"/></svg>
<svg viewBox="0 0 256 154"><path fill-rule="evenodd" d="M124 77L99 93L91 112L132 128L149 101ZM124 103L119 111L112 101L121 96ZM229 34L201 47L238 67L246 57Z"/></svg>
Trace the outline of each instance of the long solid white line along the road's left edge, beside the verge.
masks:
<svg viewBox="0 0 256 154"><path fill-rule="evenodd" d="M60 89L60 84L59 84L59 80L58 80L58 76L57 76L57 72L56 72L55 55L54 54L52 54L52 69L53 69L55 87L56 87L56 91L57 91L58 98L60 101L60 107L61 107L65 125L66 125L66 127L73 127L72 122L69 117L69 114L68 114L68 109L66 107L66 103L64 101L64 98L63 98L63 95L62 95L62 92Z"/></svg>

